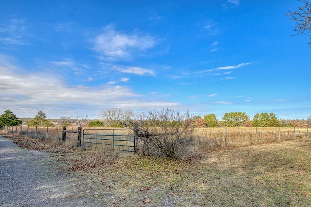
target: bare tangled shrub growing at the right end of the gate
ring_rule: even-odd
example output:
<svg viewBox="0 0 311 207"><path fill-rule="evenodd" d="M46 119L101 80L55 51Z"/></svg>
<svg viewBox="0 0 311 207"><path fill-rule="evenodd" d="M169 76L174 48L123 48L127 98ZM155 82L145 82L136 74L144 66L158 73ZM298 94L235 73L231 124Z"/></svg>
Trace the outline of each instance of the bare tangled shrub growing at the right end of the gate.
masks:
<svg viewBox="0 0 311 207"><path fill-rule="evenodd" d="M138 128L141 155L184 159L195 145L190 113L171 109L142 114L133 121Z"/></svg>

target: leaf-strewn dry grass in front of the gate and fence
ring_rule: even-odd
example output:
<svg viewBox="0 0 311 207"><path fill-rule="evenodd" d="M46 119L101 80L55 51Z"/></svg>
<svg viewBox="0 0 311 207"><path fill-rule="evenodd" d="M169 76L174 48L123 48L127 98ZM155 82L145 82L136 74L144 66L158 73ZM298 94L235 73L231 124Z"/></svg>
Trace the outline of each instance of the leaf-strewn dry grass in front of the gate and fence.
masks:
<svg viewBox="0 0 311 207"><path fill-rule="evenodd" d="M270 130L273 139L278 138L277 130L276 134ZM298 135L286 141L214 149L207 147L210 144L203 147L201 136L199 156L188 160L111 155L26 136L7 137L25 148L54 152L51 159L61 164L60 169L89 187L77 190L76 196L92 196L106 206L309 207L311 138ZM232 142L229 133L227 137ZM235 139L242 143L247 138L246 133Z"/></svg>

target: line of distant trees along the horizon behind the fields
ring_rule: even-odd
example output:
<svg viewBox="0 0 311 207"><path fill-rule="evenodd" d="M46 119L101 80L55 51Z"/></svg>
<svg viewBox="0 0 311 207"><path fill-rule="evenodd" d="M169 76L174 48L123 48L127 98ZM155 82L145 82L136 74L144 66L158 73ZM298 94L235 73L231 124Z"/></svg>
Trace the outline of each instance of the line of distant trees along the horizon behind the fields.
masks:
<svg viewBox="0 0 311 207"><path fill-rule="evenodd" d="M163 109L164 110L164 109ZM168 110L168 109L167 109ZM156 111L156 110L155 110ZM149 112L149 115L154 112ZM177 112L179 113L179 112ZM86 116L87 118L87 116ZM96 120L88 120L83 116L77 116L74 118L61 117L58 119L62 126L68 126L76 123L82 125L83 123L88 127L132 127L135 120L139 119L139 116L133 113L132 109L121 108L109 108L99 113L99 117ZM215 114L207 114L203 116L190 116L189 120L195 127L308 127L311 126L311 115L305 119L278 119L274 113L257 113L251 119L244 112L230 112L225 113L222 120L218 120ZM24 121L24 122L23 122ZM152 121L152 120L149 120ZM155 120L153 120L155 121ZM169 124L176 125L177 120L168 121ZM156 121L155 121L156 122ZM178 121L177 121L178 122ZM4 114L0 116L0 129L4 126L18 126L25 123L29 126L54 126L54 124L47 118L47 115L42 111L38 111L35 118L28 121L21 120L10 111L6 110ZM159 125L162 123L158 122Z"/></svg>

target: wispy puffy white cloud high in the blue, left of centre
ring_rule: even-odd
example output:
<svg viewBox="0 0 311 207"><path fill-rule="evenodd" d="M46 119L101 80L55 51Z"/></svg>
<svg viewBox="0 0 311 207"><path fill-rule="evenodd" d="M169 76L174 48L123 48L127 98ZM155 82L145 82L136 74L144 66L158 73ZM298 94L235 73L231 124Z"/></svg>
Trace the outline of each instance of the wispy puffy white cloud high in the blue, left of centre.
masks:
<svg viewBox="0 0 311 207"><path fill-rule="evenodd" d="M129 59L134 52L144 51L155 45L155 38L149 35L136 35L118 32L112 25L94 40L94 50L107 60Z"/></svg>

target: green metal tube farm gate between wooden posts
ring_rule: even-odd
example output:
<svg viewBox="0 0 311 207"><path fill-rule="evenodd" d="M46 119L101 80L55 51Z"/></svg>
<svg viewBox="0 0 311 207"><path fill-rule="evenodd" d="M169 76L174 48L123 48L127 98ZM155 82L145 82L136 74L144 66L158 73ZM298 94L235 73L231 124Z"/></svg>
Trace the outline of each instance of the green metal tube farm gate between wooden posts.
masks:
<svg viewBox="0 0 311 207"><path fill-rule="evenodd" d="M84 129L82 146L134 153L134 129Z"/></svg>

